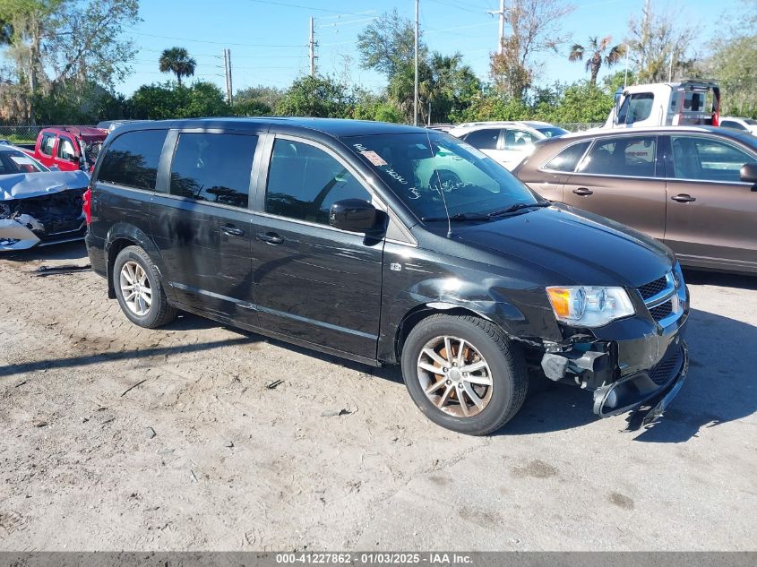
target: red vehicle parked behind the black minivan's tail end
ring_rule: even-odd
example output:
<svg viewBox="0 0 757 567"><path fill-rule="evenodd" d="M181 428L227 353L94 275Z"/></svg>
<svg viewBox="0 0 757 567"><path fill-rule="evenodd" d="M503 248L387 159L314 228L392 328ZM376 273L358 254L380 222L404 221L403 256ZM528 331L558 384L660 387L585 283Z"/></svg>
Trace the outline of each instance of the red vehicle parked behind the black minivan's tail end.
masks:
<svg viewBox="0 0 757 567"><path fill-rule="evenodd" d="M47 168L90 171L108 133L88 126L43 128L30 155Z"/></svg>

